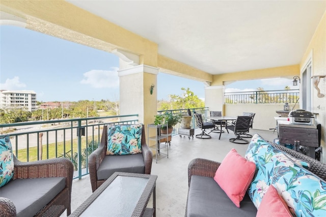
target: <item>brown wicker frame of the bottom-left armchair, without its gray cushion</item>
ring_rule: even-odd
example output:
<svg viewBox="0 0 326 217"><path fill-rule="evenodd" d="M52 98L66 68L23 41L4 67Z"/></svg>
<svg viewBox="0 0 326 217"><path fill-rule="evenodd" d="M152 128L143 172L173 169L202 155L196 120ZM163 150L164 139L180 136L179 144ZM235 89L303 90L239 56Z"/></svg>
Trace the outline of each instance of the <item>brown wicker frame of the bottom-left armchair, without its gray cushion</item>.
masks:
<svg viewBox="0 0 326 217"><path fill-rule="evenodd" d="M39 212L35 213L35 216L60 216L66 209L67 215L69 215L71 213L70 203L71 186L73 179L72 162L68 158L54 158L33 162L21 162L14 156L14 176L13 180L10 182L14 182L15 179L26 179L26 181L33 181L33 178L48 177L64 177L65 187L46 206L39 210ZM9 185L10 182L6 185ZM29 185L27 184L25 187L26 189L29 188ZM2 188L5 189L6 185ZM15 205L14 201L11 201L10 199L3 196L4 194L0 194L0 215L16 216L16 206L18 207L18 204ZM24 195L23 198L29 200L29 195Z"/></svg>

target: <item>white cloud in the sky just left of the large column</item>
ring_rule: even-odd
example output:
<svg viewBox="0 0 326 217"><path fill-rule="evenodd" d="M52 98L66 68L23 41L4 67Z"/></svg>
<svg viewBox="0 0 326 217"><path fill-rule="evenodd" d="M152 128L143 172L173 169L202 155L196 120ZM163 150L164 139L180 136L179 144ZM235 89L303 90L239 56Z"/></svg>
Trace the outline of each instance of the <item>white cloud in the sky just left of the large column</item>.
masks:
<svg viewBox="0 0 326 217"><path fill-rule="evenodd" d="M93 88L118 88L119 77L118 68L112 67L113 70L91 70L84 73L84 79L80 84L91 85Z"/></svg>

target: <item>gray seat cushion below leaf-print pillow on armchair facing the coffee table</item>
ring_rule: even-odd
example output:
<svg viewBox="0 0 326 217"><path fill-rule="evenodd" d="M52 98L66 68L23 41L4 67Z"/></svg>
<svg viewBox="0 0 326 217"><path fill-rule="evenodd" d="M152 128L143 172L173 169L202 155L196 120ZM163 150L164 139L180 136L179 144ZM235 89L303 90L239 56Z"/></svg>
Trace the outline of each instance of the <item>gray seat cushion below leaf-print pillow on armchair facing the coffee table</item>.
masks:
<svg viewBox="0 0 326 217"><path fill-rule="evenodd" d="M97 180L108 179L114 172L145 173L145 162L142 153L105 155L97 170Z"/></svg>

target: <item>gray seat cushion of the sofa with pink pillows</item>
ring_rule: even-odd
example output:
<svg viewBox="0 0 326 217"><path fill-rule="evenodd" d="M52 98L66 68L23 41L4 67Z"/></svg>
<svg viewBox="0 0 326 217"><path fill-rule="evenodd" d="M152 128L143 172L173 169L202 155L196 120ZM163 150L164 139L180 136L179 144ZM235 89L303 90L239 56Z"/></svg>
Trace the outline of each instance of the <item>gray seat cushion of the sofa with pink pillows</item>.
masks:
<svg viewBox="0 0 326 217"><path fill-rule="evenodd" d="M189 187L188 216L256 216L257 209L248 194L240 202L240 208L225 194L211 177L192 176Z"/></svg>

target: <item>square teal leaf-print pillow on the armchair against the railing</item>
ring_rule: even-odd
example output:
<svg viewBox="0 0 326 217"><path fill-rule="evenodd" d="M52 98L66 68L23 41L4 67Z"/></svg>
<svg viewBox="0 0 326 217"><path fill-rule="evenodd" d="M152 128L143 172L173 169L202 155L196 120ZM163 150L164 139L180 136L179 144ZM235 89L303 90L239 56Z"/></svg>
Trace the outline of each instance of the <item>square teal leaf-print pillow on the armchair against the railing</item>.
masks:
<svg viewBox="0 0 326 217"><path fill-rule="evenodd" d="M142 124L107 127L107 155L142 153Z"/></svg>

